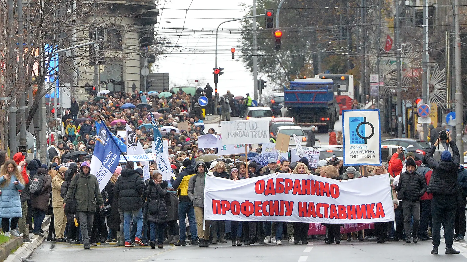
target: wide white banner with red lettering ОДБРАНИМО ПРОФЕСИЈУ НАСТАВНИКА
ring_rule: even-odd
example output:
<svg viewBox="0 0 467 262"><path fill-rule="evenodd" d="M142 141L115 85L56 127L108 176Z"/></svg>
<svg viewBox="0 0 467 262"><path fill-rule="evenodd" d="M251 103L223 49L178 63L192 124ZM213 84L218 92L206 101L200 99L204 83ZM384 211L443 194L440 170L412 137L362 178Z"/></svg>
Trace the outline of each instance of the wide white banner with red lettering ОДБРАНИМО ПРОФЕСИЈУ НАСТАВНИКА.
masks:
<svg viewBox="0 0 467 262"><path fill-rule="evenodd" d="M204 218L331 224L395 219L388 174L339 182L284 173L236 181L206 176Z"/></svg>

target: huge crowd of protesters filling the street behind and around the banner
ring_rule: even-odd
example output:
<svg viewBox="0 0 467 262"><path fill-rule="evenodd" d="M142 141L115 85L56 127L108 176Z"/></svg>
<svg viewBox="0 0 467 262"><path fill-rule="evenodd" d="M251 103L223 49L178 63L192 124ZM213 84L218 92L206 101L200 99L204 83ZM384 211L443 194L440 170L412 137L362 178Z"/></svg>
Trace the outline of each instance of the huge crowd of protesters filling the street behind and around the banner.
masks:
<svg viewBox="0 0 467 262"><path fill-rule="evenodd" d="M402 149L398 149L389 156L387 165L357 169L343 166L342 160L337 158L320 160L318 168L310 168L306 158L297 162L269 159L264 165L248 161L248 166L245 156L206 159L203 155L216 153L217 149L198 148L198 136L216 134L216 131L204 129L204 116L197 103L201 95L205 95L201 89L194 96L180 89L168 97L154 93L118 92L93 96L81 103L73 98L70 110L62 116L65 133L48 141L47 163L38 159L25 160L23 153L16 153L10 160L7 153L0 152L3 234L22 237L25 242L31 241L29 233L44 236L42 222L49 214L52 220L47 240L83 244L85 249L98 243L126 247L149 245L152 248L163 248L164 244L208 247L227 240L232 241L232 246L255 243L281 245L282 241L307 244L310 239L339 244L344 238L347 241L376 240L379 243L432 240L432 254L438 254L443 224L446 254L459 253L452 244L453 240L464 241L465 237L467 171L459 166L460 154L450 139L441 142L449 144L453 154L440 152L440 160L433 159L439 143L436 140L423 161L415 161L411 153L404 156ZM235 114L230 107L233 95L228 92L223 98L219 108L222 116L229 119L231 113L232 116ZM122 109L127 103L134 106ZM156 164L151 162L151 177L144 181L139 163L124 162L117 167L105 189L100 191L90 170L96 123L106 124L115 135L124 131L125 124L128 124L143 148L150 150L152 125L145 124L151 124L152 117L156 117L157 128L169 127L163 130L170 131L161 133L168 140L174 177L163 181ZM179 131L170 128L180 126L180 123L186 123L184 126L188 128ZM333 134L336 145L341 143L333 131L329 133ZM125 138L121 140L125 142ZM262 150L261 145L252 149L256 153ZM393 223L375 223L374 229L365 229L366 236L363 237L361 231L341 235L343 225L326 224L325 235L308 235L309 223L203 220L206 175L238 180L278 172L337 180L388 175L396 230ZM74 211L69 212L72 207Z"/></svg>

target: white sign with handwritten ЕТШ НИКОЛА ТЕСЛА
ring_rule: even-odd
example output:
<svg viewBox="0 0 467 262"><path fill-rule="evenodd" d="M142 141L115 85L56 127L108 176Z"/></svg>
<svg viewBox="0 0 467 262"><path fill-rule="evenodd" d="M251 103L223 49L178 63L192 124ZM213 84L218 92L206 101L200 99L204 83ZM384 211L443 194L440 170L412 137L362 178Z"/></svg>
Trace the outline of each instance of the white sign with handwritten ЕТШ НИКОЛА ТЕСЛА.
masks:
<svg viewBox="0 0 467 262"><path fill-rule="evenodd" d="M268 120L222 121L220 130L224 145L269 142Z"/></svg>

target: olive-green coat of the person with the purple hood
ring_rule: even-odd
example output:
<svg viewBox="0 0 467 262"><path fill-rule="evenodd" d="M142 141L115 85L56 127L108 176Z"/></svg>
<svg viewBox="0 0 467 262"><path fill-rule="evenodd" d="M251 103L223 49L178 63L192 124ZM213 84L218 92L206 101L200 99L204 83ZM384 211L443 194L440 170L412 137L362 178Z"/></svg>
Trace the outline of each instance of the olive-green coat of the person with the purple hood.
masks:
<svg viewBox="0 0 467 262"><path fill-rule="evenodd" d="M99 182L95 175L91 173L85 174L81 168L79 174L76 174L75 177L71 179L64 203L71 199L75 188L75 199L78 203L78 211L96 212L97 206L100 207L104 205L104 200L102 200L102 195L99 190Z"/></svg>

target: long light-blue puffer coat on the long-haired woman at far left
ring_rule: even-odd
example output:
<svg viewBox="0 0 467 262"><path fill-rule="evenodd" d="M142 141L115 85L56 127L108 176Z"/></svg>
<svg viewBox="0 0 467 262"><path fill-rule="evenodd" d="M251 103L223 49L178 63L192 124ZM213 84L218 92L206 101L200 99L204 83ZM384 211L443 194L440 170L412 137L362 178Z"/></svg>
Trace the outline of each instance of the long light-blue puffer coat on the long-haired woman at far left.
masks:
<svg viewBox="0 0 467 262"><path fill-rule="evenodd" d="M4 185L0 187L0 217L2 218L12 218L12 217L22 217L23 211L21 208L21 198L20 192L24 185L19 183L14 185L13 182L16 181L16 176L14 174L10 175L10 182L5 182ZM3 183L5 179L0 177L0 184Z"/></svg>

